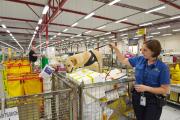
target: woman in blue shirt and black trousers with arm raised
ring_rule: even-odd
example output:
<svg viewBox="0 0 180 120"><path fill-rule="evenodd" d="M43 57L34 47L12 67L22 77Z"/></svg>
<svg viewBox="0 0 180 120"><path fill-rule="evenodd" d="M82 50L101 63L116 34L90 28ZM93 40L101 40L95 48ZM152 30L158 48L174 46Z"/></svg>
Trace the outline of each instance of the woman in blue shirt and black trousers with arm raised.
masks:
<svg viewBox="0 0 180 120"><path fill-rule="evenodd" d="M161 52L159 41L144 42L141 49L143 56L129 59L114 44L110 47L121 63L135 67L132 104L137 120L159 120L165 103L163 95L168 93L170 84L169 69L158 59Z"/></svg>

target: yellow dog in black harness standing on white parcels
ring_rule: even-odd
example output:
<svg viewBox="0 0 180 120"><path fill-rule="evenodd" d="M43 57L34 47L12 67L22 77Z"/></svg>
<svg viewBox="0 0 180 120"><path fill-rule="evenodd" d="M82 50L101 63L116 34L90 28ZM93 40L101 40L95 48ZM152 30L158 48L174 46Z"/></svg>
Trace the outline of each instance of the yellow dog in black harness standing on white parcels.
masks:
<svg viewBox="0 0 180 120"><path fill-rule="evenodd" d="M72 55L65 62L66 71L86 67L96 72L102 72L102 54L97 50L85 51Z"/></svg>

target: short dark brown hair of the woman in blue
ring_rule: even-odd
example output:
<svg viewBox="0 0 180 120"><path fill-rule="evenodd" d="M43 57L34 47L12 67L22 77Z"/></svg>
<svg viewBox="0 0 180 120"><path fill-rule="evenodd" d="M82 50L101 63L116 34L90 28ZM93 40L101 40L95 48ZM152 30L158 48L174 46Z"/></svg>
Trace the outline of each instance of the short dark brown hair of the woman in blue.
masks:
<svg viewBox="0 0 180 120"><path fill-rule="evenodd" d="M148 40L144 44L153 52L152 57L158 57L161 53L161 44L158 40Z"/></svg>

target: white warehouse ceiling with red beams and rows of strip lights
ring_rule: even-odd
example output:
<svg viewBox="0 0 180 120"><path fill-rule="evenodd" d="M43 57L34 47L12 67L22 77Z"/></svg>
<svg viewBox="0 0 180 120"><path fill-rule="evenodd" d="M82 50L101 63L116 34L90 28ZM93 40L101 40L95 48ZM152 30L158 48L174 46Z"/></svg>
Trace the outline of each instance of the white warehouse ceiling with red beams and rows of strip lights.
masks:
<svg viewBox="0 0 180 120"><path fill-rule="evenodd" d="M147 38L166 36L178 34L179 15L180 0L0 0L0 24L7 27L0 27L0 44L27 50L46 40L49 45L103 42L106 36L121 40L138 37L137 29L146 23Z"/></svg>

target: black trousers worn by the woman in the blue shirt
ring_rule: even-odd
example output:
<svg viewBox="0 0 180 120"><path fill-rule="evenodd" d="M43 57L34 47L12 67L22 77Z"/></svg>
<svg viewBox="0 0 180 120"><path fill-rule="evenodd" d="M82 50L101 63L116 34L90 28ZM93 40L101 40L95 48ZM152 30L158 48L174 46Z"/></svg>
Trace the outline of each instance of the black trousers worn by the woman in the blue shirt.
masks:
<svg viewBox="0 0 180 120"><path fill-rule="evenodd" d="M140 105L141 94L132 93L132 104L137 120L159 120L162 107L157 105L157 99L153 95L144 95L146 97L146 106Z"/></svg>

